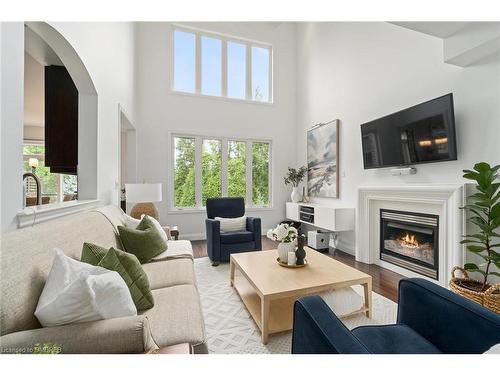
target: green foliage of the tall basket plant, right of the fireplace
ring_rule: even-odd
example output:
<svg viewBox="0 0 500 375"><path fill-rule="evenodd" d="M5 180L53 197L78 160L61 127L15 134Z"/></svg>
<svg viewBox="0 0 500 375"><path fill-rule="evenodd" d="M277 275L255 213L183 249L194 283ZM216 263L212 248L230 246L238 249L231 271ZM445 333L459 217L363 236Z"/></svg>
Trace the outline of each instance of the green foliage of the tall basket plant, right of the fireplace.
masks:
<svg viewBox="0 0 500 375"><path fill-rule="evenodd" d="M483 275L481 291L488 287L490 275L500 276L492 271L494 265L500 269L500 165L491 167L488 163L478 163L473 170L465 169L463 177L477 182L477 192L469 197L468 204L461 207L470 213L468 221L478 227L478 233L465 235L460 241L467 250L483 259L483 263L466 263L464 268Z"/></svg>

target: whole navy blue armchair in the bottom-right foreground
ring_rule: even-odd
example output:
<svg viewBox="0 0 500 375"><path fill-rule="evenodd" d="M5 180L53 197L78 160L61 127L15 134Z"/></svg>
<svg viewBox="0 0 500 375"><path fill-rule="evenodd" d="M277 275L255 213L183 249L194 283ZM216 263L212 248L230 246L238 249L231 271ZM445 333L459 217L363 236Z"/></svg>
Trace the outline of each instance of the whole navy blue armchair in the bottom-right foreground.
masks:
<svg viewBox="0 0 500 375"><path fill-rule="evenodd" d="M319 296L295 302L292 353L479 354L500 342L500 314L423 279L399 282L396 324L352 331Z"/></svg>

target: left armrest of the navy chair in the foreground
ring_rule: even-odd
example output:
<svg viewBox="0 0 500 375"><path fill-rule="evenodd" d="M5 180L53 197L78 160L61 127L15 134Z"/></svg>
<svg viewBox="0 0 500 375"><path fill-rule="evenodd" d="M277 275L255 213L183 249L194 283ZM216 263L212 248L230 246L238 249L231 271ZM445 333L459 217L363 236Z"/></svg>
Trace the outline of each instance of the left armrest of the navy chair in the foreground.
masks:
<svg viewBox="0 0 500 375"><path fill-rule="evenodd" d="M366 347L319 296L294 305L292 354L363 354Z"/></svg>

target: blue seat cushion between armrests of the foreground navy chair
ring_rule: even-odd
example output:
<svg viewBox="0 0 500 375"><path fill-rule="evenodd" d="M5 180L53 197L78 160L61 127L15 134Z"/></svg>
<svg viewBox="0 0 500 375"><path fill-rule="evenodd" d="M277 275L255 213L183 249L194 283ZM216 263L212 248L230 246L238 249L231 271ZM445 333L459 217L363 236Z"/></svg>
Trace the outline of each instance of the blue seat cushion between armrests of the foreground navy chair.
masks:
<svg viewBox="0 0 500 375"><path fill-rule="evenodd" d="M405 324L365 326L352 334L375 354L436 354L441 351Z"/></svg>

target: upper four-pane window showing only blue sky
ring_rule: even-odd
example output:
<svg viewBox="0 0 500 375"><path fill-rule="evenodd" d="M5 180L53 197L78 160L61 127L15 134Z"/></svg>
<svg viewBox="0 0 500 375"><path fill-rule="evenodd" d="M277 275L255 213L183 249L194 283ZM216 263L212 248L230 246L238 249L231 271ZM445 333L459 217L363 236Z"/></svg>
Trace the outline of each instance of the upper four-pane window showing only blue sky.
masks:
<svg viewBox="0 0 500 375"><path fill-rule="evenodd" d="M176 26L172 88L271 103L272 52L266 43Z"/></svg>

